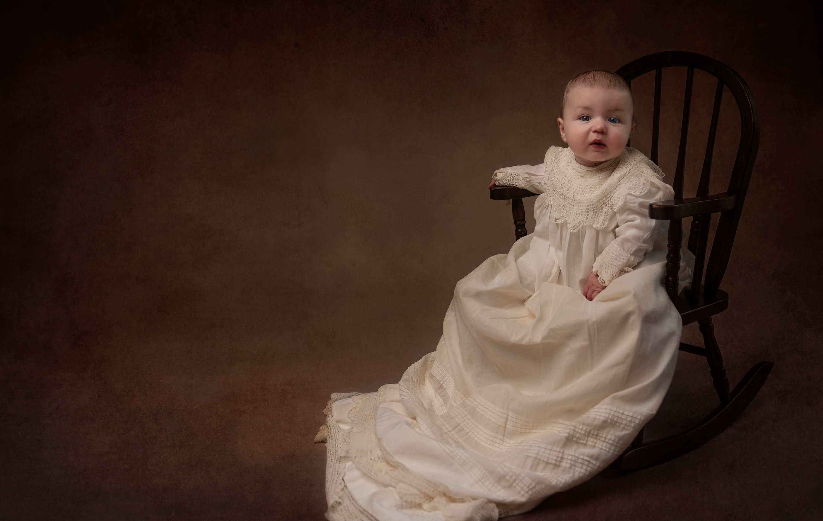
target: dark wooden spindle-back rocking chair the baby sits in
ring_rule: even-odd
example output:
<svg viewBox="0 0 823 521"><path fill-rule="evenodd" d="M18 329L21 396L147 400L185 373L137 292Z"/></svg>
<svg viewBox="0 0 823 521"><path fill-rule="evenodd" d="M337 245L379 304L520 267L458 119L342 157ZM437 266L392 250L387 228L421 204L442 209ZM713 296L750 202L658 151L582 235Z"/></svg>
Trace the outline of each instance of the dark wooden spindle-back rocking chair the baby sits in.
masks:
<svg viewBox="0 0 823 521"><path fill-rule="evenodd" d="M746 198L746 189L749 187L751 169L757 156L757 147L760 141L760 118L757 113L754 96L749 86L737 72L719 63L718 61L697 53L681 51L667 51L664 53L649 54L636 59L620 69L617 74L629 82L646 72L654 71L654 109L652 123L652 148L649 159L658 162L658 136L660 127L660 91L663 67L687 67L686 95L683 101L683 119L680 134L680 147L677 152L677 167L672 183L675 198L672 201L649 205L649 216L653 219L667 219L670 221L668 232L668 254L666 263L666 291L677 310L680 311L683 325L697 322L700 324L700 333L703 334L704 347L680 344L681 351L705 356L709 361L714 388L720 398L720 403L709 416L699 424L661 440L648 443L643 442L643 430L626 449L620 458L612 463L611 468L620 470L636 470L653 467L667 462L683 454L697 449L714 436L726 430L735 418L751 403L760 387L765 382L772 362L763 361L754 365L729 392L726 370L723 368L723 356L714 337L712 316L728 307L728 294L719 289L720 281L728 265L728 258L732 251L737 223ZM686 163L686 137L689 131L689 114L691 106L692 82L695 68L708 72L718 78L717 90L714 95L714 109L712 110L711 125L709 127L709 142L703 160L703 170L700 174L700 183L694 198L683 198L683 170ZM740 144L737 147L737 158L732 169L732 176L728 189L724 193L709 195L709 175L711 172L712 155L714 152L714 138L717 133L720 102L723 99L723 86L737 101L740 110L741 134ZM512 216L514 216L514 240L526 235L526 217L523 210L523 198L532 197L532 193L517 187L494 187L490 190L492 199L511 199ZM705 266L707 243L709 241L709 225L712 214L719 213L720 221L714 235L714 244L709 254L709 263ZM677 273L681 261L681 240L683 234L683 218L692 217L689 231L688 249L695 254L695 272L692 277L691 290L685 289L678 295L679 280ZM705 275L705 277L704 277ZM701 284L701 282L703 282Z"/></svg>

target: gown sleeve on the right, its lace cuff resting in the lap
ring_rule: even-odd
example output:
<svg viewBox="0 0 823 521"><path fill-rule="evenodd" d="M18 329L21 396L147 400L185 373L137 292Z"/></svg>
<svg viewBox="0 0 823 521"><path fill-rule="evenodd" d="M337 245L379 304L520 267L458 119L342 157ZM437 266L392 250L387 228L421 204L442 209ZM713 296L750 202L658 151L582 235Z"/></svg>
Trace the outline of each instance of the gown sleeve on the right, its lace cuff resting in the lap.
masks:
<svg viewBox="0 0 823 521"><path fill-rule="evenodd" d="M641 196L628 194L625 197L625 202L616 211L615 240L594 261L592 271L597 273L597 281L608 286L643 260L646 252L652 249L660 228L660 221L649 217L649 203L673 197L672 188L662 181L650 184L649 190Z"/></svg>

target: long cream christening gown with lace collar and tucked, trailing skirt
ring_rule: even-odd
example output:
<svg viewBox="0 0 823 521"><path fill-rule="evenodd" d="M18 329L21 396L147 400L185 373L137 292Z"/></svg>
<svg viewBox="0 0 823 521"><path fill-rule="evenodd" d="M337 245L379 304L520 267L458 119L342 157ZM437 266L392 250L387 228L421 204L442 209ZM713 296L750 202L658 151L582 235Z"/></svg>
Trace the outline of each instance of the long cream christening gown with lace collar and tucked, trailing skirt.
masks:
<svg viewBox="0 0 823 521"><path fill-rule="evenodd" d="M541 193L534 233L458 282L437 351L399 384L332 394L328 519L498 519L621 454L657 412L681 336L666 225L649 219L673 198L662 176L633 148L585 167L551 147L543 165L495 172ZM591 272L607 287L589 301Z"/></svg>

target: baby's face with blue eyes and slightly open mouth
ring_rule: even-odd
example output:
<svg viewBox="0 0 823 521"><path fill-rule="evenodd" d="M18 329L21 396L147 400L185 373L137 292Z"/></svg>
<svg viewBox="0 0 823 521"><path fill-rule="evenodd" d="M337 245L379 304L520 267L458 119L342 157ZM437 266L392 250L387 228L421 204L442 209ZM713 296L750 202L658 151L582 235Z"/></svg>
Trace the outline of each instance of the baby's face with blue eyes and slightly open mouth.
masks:
<svg viewBox="0 0 823 521"><path fill-rule="evenodd" d="M560 136L580 165L595 166L620 156L629 141L634 107L626 91L576 86L566 96Z"/></svg>

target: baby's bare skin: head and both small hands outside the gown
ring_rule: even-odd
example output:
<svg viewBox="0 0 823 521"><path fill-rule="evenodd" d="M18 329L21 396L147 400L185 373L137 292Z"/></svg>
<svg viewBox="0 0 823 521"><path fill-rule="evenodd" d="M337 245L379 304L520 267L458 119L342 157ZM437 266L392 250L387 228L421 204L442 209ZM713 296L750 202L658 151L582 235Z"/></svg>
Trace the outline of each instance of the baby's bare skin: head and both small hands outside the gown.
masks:
<svg viewBox="0 0 823 521"><path fill-rule="evenodd" d="M620 156L635 130L629 86L613 72L579 74L565 88L557 124L560 137L569 143L579 165L597 166ZM492 180L489 188L494 187ZM605 289L597 273L592 272L583 295L593 300Z"/></svg>

